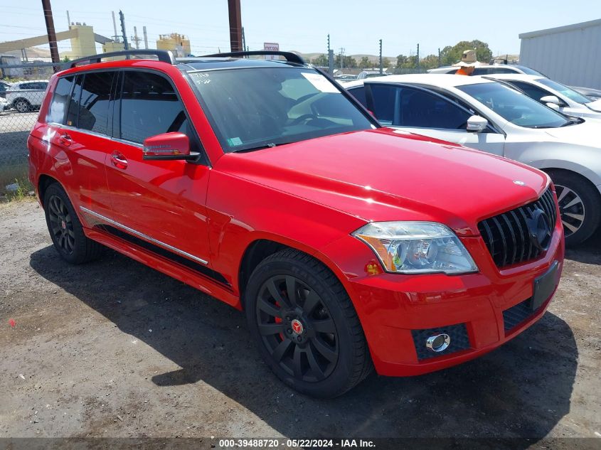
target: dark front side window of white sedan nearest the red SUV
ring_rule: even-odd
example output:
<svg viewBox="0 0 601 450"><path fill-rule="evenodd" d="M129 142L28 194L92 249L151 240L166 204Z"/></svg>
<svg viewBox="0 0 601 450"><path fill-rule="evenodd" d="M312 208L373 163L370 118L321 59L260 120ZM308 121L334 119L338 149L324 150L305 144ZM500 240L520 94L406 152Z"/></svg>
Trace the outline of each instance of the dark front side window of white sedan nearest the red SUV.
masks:
<svg viewBox="0 0 601 450"><path fill-rule="evenodd" d="M422 90L403 87L400 125L438 129L464 129L469 114L451 102Z"/></svg>

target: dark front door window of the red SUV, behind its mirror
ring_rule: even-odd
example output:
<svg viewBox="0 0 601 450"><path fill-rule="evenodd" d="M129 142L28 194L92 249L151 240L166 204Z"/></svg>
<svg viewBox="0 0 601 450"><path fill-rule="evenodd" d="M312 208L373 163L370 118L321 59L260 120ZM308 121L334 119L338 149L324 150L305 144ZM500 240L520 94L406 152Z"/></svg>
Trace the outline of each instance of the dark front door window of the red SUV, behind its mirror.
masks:
<svg viewBox="0 0 601 450"><path fill-rule="evenodd" d="M184 107L161 75L125 72L121 96L121 139L142 144L156 134L179 131Z"/></svg>

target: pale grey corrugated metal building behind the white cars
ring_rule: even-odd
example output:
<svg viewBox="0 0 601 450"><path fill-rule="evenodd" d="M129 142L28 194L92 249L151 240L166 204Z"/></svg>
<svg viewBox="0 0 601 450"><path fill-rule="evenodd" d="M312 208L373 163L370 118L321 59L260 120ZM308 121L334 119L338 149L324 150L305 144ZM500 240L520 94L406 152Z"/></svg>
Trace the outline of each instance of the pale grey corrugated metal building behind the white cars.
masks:
<svg viewBox="0 0 601 450"><path fill-rule="evenodd" d="M601 19L521 33L520 64L564 85L601 89Z"/></svg>

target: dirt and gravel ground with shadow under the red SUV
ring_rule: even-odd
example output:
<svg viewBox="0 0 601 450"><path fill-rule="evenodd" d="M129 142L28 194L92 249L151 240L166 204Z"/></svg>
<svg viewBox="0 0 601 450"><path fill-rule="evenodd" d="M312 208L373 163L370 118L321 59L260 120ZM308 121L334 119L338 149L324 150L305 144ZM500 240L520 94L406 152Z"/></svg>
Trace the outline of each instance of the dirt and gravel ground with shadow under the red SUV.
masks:
<svg viewBox="0 0 601 450"><path fill-rule="evenodd" d="M598 236L568 251L548 312L513 341L438 373L373 375L335 400L284 387L261 362L243 314L200 291L115 252L66 264L33 201L0 205L0 246L0 438L546 436L601 444Z"/></svg>

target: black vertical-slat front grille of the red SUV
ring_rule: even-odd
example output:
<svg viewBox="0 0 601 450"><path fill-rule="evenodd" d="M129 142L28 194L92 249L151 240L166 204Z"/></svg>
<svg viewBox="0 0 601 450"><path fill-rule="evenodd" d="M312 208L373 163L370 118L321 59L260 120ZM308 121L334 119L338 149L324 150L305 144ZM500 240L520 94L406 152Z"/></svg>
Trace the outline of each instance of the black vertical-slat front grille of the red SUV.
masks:
<svg viewBox="0 0 601 450"><path fill-rule="evenodd" d="M480 235L496 267L531 261L541 255L542 250L533 245L528 232L528 220L533 217L532 214L537 208L546 213L551 230L555 229L557 210L551 188L548 188L538 200L484 219L478 224Z"/></svg>

